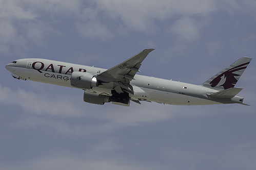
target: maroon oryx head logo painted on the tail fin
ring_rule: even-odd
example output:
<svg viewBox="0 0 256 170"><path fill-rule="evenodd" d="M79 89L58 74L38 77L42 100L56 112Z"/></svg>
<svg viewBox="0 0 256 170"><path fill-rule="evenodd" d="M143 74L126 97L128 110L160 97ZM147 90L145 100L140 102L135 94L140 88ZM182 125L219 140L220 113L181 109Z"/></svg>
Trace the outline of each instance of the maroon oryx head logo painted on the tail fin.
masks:
<svg viewBox="0 0 256 170"><path fill-rule="evenodd" d="M216 77L215 79L213 79L210 82L211 87L223 86L224 89L234 87L234 85L238 82L238 79L236 79L235 76L241 76L238 74L234 74L234 72L241 70L241 69L245 69L247 66L244 66L244 65L247 65L247 64L249 64L249 62L235 66L235 67L223 72L221 75L219 75L218 77Z"/></svg>

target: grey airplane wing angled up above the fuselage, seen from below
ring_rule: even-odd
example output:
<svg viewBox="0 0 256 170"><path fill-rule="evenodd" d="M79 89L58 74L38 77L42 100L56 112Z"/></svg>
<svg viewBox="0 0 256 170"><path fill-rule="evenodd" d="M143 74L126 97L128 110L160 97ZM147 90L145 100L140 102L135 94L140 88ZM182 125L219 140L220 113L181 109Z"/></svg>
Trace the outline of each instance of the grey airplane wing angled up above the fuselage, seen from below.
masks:
<svg viewBox="0 0 256 170"><path fill-rule="evenodd" d="M142 61L153 50L155 49L145 49L130 59L102 72L101 74L97 75L97 77L106 83L113 82L113 88L118 93L123 92L123 89L126 89L127 92L133 93L130 81L134 79L134 76L137 72L140 72L139 68L142 65Z"/></svg>

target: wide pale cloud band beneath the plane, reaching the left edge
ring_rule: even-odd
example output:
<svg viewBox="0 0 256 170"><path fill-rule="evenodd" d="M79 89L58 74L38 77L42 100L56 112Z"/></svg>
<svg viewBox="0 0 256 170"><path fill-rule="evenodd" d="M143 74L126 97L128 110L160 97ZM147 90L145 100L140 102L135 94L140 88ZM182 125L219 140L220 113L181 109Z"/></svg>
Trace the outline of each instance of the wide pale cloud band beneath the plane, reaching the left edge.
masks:
<svg viewBox="0 0 256 170"><path fill-rule="evenodd" d="M83 103L82 98L75 95L55 92L51 95L45 90L36 93L23 89L12 90L0 84L0 105L5 107L16 105L27 112L26 117L18 119L11 125L13 128L50 127L63 135L78 136L108 134L120 128L155 123L173 116L167 108L159 112L163 105L156 103L144 103L145 106L132 103L131 107L111 103L99 106ZM51 118L47 118L48 115ZM78 122L70 122L70 118ZM81 120L83 123L80 123ZM94 124L91 125L90 122Z"/></svg>

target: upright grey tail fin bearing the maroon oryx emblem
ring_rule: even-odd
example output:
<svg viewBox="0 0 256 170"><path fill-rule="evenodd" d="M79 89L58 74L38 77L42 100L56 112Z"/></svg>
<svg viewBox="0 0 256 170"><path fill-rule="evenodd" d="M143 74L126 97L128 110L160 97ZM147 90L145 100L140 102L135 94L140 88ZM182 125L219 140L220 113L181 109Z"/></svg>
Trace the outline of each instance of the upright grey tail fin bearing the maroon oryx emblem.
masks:
<svg viewBox="0 0 256 170"><path fill-rule="evenodd" d="M207 80L202 85L216 90L225 90L235 86L243 74L245 68L250 63L251 58L242 57L238 61Z"/></svg>

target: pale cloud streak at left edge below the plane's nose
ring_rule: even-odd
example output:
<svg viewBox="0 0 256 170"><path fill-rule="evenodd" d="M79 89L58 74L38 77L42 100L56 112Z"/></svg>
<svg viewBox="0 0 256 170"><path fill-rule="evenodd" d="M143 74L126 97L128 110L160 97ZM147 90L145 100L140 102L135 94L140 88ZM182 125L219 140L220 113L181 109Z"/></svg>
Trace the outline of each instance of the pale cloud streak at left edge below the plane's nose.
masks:
<svg viewBox="0 0 256 170"><path fill-rule="evenodd" d="M68 99L68 97L63 98L63 96L54 98L47 96L47 94L36 94L23 89L13 91L9 87L2 87L0 84L0 104L18 105L34 114L81 116L83 110L78 109L75 103L70 104Z"/></svg>

